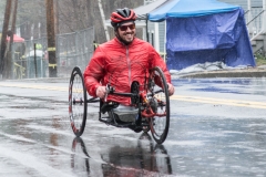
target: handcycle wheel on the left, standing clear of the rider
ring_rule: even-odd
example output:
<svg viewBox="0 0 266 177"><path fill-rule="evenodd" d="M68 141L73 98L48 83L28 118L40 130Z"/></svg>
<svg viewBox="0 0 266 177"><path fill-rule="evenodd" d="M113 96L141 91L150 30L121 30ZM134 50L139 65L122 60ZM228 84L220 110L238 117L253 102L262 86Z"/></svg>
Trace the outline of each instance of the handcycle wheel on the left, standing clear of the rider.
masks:
<svg viewBox="0 0 266 177"><path fill-rule="evenodd" d="M86 122L86 90L80 67L75 66L71 73L69 85L69 116L75 136L81 136Z"/></svg>

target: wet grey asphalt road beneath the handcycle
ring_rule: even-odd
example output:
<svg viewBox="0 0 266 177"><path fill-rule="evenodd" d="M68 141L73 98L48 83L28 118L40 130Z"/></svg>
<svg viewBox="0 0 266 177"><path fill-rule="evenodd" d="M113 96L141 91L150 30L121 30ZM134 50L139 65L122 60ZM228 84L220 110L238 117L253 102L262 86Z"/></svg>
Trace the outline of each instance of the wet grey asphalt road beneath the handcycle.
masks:
<svg viewBox="0 0 266 177"><path fill-rule="evenodd" d="M100 123L75 138L68 81L0 81L0 176L266 176L266 79L174 80L167 139Z"/></svg>

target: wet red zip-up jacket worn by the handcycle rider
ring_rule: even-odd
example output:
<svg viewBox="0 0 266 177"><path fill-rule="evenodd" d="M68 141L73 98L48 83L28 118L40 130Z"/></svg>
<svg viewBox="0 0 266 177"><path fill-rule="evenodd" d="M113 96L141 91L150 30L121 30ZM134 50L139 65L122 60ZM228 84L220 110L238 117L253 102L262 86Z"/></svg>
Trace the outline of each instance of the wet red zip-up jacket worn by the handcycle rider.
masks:
<svg viewBox="0 0 266 177"><path fill-rule="evenodd" d="M98 86L108 83L115 92L130 93L132 82L143 84L149 69L154 66L160 66L171 83L164 61L150 43L135 38L130 45L124 45L115 38L95 50L84 71L85 87L91 96L96 96ZM117 95L109 95L108 101L131 104L130 97Z"/></svg>

